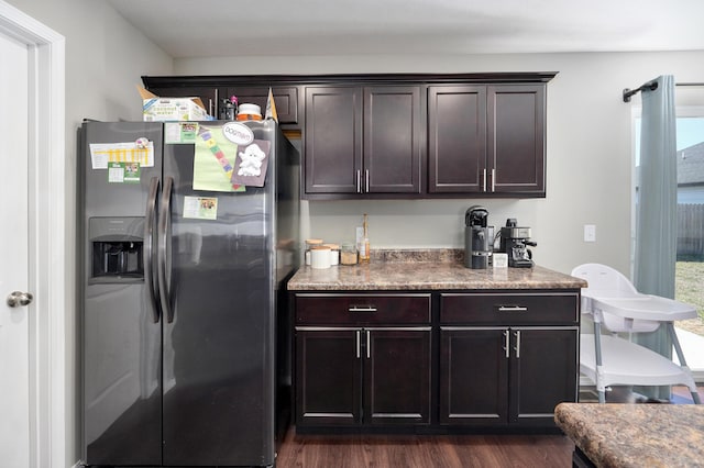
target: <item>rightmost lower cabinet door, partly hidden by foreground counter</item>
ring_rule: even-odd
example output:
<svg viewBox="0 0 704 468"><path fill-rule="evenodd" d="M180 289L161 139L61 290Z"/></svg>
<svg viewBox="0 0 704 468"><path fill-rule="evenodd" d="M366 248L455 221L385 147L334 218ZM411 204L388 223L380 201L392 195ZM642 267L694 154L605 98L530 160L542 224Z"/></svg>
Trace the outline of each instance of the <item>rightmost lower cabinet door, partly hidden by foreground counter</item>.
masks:
<svg viewBox="0 0 704 468"><path fill-rule="evenodd" d="M576 327L513 327L510 422L554 426L554 406L575 402Z"/></svg>

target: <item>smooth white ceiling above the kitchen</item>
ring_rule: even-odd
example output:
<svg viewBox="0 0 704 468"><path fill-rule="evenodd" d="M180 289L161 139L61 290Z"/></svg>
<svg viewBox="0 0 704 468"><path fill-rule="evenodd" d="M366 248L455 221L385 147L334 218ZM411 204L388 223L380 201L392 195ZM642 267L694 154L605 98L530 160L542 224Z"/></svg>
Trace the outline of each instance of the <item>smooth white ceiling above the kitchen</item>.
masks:
<svg viewBox="0 0 704 468"><path fill-rule="evenodd" d="M108 0L174 58L704 51L702 0Z"/></svg>

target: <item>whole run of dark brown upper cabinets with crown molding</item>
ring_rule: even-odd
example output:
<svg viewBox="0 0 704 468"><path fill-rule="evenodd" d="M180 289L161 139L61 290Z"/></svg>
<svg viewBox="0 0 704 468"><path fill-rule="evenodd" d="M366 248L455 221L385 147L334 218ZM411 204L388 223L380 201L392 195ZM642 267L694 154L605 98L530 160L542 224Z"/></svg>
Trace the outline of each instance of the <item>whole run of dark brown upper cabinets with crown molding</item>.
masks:
<svg viewBox="0 0 704 468"><path fill-rule="evenodd" d="M142 77L199 96L212 115L234 94L301 138L301 197L546 197L547 83L540 73Z"/></svg>

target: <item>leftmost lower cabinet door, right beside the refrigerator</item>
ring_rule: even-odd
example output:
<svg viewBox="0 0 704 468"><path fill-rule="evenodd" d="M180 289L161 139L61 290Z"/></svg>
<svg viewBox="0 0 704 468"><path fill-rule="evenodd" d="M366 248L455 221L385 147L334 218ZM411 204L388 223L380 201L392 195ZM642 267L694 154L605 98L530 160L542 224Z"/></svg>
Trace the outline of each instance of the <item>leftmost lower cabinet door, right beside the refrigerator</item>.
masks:
<svg viewBox="0 0 704 468"><path fill-rule="evenodd" d="M359 328L296 331L296 424L362 422Z"/></svg>

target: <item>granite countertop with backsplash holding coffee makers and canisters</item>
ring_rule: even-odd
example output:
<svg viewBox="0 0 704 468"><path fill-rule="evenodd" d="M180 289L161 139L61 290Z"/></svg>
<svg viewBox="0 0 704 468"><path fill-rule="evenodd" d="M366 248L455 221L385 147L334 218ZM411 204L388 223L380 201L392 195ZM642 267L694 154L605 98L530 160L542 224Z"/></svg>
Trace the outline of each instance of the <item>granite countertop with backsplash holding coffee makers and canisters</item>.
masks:
<svg viewBox="0 0 704 468"><path fill-rule="evenodd" d="M580 289L586 281L540 266L534 268L465 268L463 250L372 250L366 265L300 268L290 291Z"/></svg>

